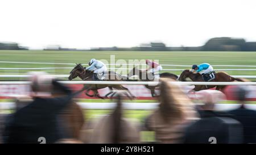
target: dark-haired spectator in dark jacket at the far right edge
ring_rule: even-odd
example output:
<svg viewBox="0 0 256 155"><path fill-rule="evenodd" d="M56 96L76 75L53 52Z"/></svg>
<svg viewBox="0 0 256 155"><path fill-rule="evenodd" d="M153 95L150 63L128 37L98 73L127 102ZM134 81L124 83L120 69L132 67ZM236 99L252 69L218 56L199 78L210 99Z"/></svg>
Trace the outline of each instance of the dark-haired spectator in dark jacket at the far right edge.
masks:
<svg viewBox="0 0 256 155"><path fill-rule="evenodd" d="M244 143L256 143L256 111L245 108L246 94L249 90L247 87L238 87L235 91L240 108L228 111L231 118L234 118L243 125Z"/></svg>

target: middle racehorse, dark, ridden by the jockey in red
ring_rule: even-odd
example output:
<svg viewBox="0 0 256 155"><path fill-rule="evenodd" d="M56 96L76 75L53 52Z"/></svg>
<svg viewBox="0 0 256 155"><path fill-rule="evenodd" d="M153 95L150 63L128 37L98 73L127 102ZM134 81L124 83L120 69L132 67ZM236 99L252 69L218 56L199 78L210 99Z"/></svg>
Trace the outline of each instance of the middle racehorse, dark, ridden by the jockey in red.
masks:
<svg viewBox="0 0 256 155"><path fill-rule="evenodd" d="M139 69L137 69L137 67L134 67L127 75L128 78L130 78L131 76L138 76L139 80L141 80L141 81L153 81L154 80L154 76L152 76L151 73L148 73L146 70L139 70ZM159 76L160 76L160 78L171 78L174 80L177 80L177 78L178 78L178 76L176 76L175 74L167 73L167 72L160 73ZM155 97L155 95L156 95L155 88L158 86L159 85L156 85L156 86L145 85L145 87L151 91L152 97Z"/></svg>

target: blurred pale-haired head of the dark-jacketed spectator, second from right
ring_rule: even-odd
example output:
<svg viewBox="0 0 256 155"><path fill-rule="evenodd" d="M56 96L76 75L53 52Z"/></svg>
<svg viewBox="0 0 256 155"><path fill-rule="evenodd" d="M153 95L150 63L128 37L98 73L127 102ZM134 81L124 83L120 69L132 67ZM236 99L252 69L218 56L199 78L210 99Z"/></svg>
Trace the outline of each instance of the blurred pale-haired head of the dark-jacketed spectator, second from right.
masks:
<svg viewBox="0 0 256 155"><path fill-rule="evenodd" d="M214 104L225 98L225 95L218 90L201 90L201 98L204 102L203 110L214 110Z"/></svg>

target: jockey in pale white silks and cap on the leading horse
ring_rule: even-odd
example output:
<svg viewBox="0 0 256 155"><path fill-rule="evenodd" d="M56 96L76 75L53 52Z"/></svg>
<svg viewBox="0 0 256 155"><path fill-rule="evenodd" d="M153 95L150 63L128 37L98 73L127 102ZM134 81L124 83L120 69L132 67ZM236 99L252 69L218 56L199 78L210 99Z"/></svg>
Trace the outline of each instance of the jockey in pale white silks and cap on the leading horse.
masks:
<svg viewBox="0 0 256 155"><path fill-rule="evenodd" d="M89 67L86 68L86 70L90 70L93 71L93 80L97 80L99 79L98 76L103 76L105 72L108 71L108 69L106 68L106 65L100 61L100 60L96 60L95 58L92 58L89 62ZM105 77L103 76L100 80L105 79Z"/></svg>

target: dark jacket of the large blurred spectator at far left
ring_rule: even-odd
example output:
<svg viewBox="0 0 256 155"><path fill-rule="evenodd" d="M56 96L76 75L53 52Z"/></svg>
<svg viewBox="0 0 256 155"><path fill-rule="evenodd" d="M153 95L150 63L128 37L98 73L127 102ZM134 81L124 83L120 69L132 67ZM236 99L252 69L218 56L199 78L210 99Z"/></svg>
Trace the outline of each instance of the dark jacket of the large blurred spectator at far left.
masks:
<svg viewBox="0 0 256 155"><path fill-rule="evenodd" d="M34 98L32 103L16 111L6 125L7 139L5 143L39 143L38 138L44 137L46 143L54 143L60 139L57 115L71 102L74 95L59 82L53 82L65 92L60 98Z"/></svg>

